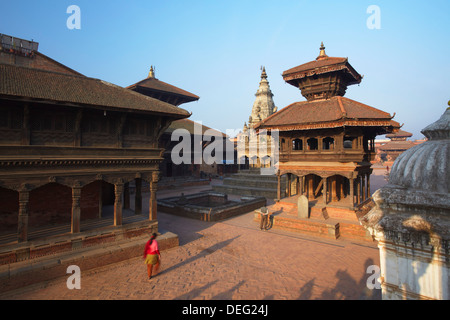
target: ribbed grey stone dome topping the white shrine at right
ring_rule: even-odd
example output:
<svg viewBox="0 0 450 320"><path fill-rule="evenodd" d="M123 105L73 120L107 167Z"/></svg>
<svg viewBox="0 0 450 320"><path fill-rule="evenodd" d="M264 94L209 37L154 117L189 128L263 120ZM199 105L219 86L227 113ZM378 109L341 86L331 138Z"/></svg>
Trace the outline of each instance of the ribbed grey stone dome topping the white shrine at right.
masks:
<svg viewBox="0 0 450 320"><path fill-rule="evenodd" d="M450 191L450 107L421 131L428 141L403 152L392 166L389 184L448 194Z"/></svg>

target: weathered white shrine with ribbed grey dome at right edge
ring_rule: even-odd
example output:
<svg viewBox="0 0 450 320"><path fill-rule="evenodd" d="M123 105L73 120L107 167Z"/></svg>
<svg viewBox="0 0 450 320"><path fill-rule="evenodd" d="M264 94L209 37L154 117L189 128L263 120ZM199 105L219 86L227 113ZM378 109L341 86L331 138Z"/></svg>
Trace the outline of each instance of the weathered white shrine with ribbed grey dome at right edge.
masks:
<svg viewBox="0 0 450 320"><path fill-rule="evenodd" d="M361 219L380 248L383 299L450 299L450 108L422 133Z"/></svg>

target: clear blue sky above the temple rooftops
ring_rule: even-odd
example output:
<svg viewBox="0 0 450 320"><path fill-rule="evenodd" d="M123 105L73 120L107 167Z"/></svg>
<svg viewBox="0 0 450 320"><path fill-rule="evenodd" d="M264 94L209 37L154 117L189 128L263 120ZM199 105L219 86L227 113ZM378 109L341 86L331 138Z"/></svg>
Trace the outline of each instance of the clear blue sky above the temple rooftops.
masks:
<svg viewBox="0 0 450 320"><path fill-rule="evenodd" d="M80 30L66 26L70 5ZM367 27L370 5L381 29ZM123 87L154 65L159 80L200 96L181 105L192 120L223 132L248 120L262 65L278 109L305 100L281 74L315 59L323 41L364 75L346 97L395 112L419 139L450 100L449 12L448 0L2 0L0 33Z"/></svg>

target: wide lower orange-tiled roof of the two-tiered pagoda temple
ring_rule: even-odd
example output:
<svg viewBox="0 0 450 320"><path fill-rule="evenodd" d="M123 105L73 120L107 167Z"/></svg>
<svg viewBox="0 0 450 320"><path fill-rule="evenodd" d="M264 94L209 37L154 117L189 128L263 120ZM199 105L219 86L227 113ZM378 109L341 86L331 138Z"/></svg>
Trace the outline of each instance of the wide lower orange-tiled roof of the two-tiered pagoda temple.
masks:
<svg viewBox="0 0 450 320"><path fill-rule="evenodd" d="M360 125L399 128L399 123L391 119L387 112L336 96L327 100L295 102L261 121L256 128L304 130Z"/></svg>

